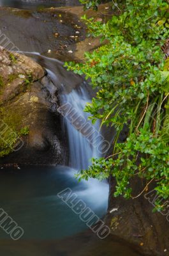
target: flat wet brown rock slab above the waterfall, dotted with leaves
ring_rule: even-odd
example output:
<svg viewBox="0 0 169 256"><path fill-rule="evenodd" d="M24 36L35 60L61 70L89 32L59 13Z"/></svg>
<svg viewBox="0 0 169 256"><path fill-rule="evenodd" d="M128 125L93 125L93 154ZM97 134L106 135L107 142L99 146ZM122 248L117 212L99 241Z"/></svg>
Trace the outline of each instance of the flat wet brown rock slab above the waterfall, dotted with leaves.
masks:
<svg viewBox="0 0 169 256"><path fill-rule="evenodd" d="M83 38L84 29L78 17L71 13L54 8L37 12L0 8L0 45L10 49L11 44L4 46L4 35L17 47L13 51L26 52L61 52ZM71 36L77 35L77 38ZM11 50L11 49L10 49Z"/></svg>

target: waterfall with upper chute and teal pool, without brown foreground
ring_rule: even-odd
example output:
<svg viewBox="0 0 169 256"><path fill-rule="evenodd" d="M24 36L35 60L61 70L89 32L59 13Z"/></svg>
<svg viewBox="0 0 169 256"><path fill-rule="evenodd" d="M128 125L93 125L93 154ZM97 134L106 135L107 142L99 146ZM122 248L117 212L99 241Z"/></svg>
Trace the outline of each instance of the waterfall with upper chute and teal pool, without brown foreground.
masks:
<svg viewBox="0 0 169 256"><path fill-rule="evenodd" d="M31 54L39 62L43 59L43 67L47 69L52 82L55 85L59 84L60 88L64 89L61 93L62 104L69 103L87 122L88 115L84 113L83 109L86 102L91 99L85 84L82 83L77 89L65 93L66 86L70 84L62 84L62 77L59 77L59 73L57 73L57 70L62 68L62 63L38 53L32 52ZM27 55L29 54L27 53ZM37 56L40 59L37 59ZM55 72L49 69L51 62L54 63ZM56 66L58 69L55 68ZM66 73L66 71L64 72ZM65 74L65 76L68 75ZM99 129L99 123L95 125L95 128ZM77 234L77 232L87 229L85 223L57 197L57 193L65 188L70 188L76 193L78 198L84 200L85 204L91 207L92 211L100 218L107 211L107 182L89 179L88 182L78 183L74 177L78 170L89 166L91 157L99 157L98 151L64 117L62 130L67 134L69 141L68 166L22 168L22 172L20 171L14 176L11 172L8 177L4 175L3 179L0 180L0 197L1 202L3 202L1 205L26 230L24 234L26 239L55 239ZM8 186L11 190L11 184L14 191L13 195L6 196L5 191ZM18 212L17 209L21 209L21 212ZM8 236L0 230L0 237Z"/></svg>

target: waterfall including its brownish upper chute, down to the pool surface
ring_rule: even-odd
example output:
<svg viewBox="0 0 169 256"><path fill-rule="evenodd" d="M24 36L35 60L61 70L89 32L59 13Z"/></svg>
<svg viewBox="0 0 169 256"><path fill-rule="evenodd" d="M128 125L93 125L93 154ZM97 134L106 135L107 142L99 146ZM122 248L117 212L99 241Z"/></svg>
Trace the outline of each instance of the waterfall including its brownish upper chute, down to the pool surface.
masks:
<svg viewBox="0 0 169 256"><path fill-rule="evenodd" d="M59 60L42 56L39 52L22 53L31 55L47 70L48 77L59 90L61 113L62 106L68 104L69 113L64 111L62 113L62 130L68 140L68 165L76 170L87 169L91 163L91 158L104 156L109 147L108 141L104 140L99 131L100 122L97 121L92 124L88 120L89 114L84 112L87 102L91 102L91 93L89 93L87 83L83 82L82 78L76 74L66 71ZM73 125L80 119L84 122L82 129Z"/></svg>

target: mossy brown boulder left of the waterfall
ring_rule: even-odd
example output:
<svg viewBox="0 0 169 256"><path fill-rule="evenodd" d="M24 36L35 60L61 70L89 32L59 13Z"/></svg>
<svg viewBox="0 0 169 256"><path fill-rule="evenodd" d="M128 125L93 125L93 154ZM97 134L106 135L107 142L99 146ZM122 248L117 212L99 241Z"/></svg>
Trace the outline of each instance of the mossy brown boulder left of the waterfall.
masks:
<svg viewBox="0 0 169 256"><path fill-rule="evenodd" d="M1 120L8 127L29 127L22 136L23 147L0 160L1 164L62 163L61 116L57 113L58 95L55 85L45 76L40 65L30 58L0 49L0 70L4 85L0 95ZM31 82L27 84L31 74ZM12 81L9 81L12 77ZM65 141L65 140L64 140Z"/></svg>

